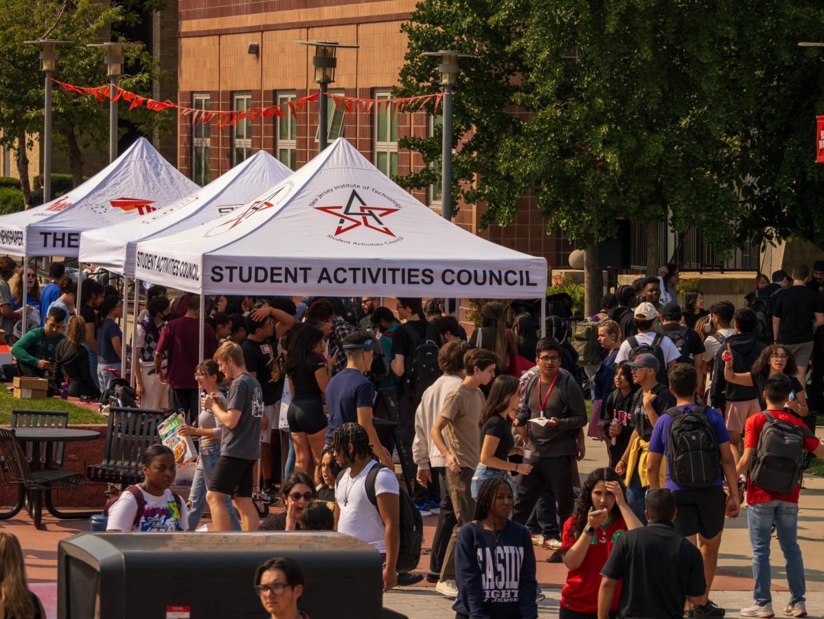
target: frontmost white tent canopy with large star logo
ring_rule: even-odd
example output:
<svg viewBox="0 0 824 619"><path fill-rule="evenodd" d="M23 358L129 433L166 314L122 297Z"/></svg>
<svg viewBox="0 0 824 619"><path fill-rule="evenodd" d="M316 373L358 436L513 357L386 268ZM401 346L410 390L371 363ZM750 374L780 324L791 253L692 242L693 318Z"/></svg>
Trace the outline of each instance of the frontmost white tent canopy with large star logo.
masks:
<svg viewBox="0 0 824 619"><path fill-rule="evenodd" d="M447 222L339 138L240 209L139 242L135 276L202 294L543 298L546 261Z"/></svg>

